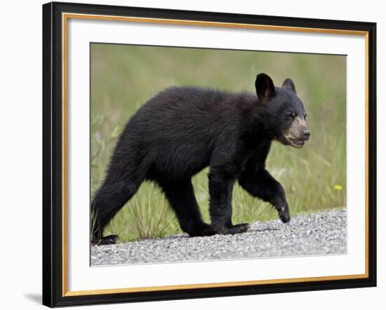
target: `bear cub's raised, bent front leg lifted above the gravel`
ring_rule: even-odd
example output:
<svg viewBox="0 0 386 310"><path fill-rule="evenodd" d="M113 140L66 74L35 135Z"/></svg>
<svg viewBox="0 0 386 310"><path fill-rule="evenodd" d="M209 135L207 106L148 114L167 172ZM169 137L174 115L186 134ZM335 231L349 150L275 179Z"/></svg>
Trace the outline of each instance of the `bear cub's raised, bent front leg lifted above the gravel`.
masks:
<svg viewBox="0 0 386 310"><path fill-rule="evenodd" d="M239 184L252 196L272 203L281 221L289 222L291 217L284 188L265 168L260 168L255 172L245 170L239 177Z"/></svg>

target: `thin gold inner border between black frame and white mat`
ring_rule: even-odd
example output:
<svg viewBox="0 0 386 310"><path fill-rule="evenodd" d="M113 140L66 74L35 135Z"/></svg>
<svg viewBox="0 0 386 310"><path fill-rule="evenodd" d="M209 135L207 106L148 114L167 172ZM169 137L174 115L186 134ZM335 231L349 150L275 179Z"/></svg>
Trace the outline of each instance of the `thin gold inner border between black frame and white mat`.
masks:
<svg viewBox="0 0 386 310"><path fill-rule="evenodd" d="M140 288L112 288L103 290L67 290L67 22L69 18L81 20L105 20L120 22L146 22L152 24L166 25L188 25L188 26L206 26L206 27L228 27L239 29L260 29L276 30L290 32L313 32L325 34L350 34L365 37L365 117L366 117L366 162L365 162L365 273L342 276L318 276L307 278L281 278L272 280L258 281L237 281L222 283L200 283L183 285L164 285ZM310 281L331 281L368 278L368 32L354 31L346 29L321 29L308 27L288 27L272 25L251 25L242 23L227 22L204 22L198 20L172 20L164 18L135 18L126 16L111 15L91 15L78 13L62 13L62 297L81 296L81 295L101 295L124 292L152 292L162 290L182 290L194 288L225 288L241 285L262 285L274 283L299 283Z"/></svg>

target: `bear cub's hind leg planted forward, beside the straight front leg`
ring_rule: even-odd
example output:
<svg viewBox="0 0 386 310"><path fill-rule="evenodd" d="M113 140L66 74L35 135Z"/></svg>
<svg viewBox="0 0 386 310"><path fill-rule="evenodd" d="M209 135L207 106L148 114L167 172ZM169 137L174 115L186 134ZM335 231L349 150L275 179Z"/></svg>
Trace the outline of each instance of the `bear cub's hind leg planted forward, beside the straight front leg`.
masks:
<svg viewBox="0 0 386 310"><path fill-rule="evenodd" d="M171 207L180 222L180 227L189 236L210 236L214 234L211 225L201 219L199 205L194 197L191 180L159 182Z"/></svg>

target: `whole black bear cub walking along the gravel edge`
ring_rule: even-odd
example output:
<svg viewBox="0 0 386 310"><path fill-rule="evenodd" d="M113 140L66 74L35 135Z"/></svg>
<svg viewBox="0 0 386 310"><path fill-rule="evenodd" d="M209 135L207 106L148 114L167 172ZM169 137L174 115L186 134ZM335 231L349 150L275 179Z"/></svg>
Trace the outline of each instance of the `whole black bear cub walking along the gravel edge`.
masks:
<svg viewBox="0 0 386 310"><path fill-rule="evenodd" d="M168 88L143 105L117 142L107 175L95 194L92 243L117 236L103 229L145 180L157 182L189 236L239 234L248 224L232 223L232 189L272 203L290 220L284 189L265 169L272 141L300 148L310 137L305 109L291 79L275 87L258 74L256 93L227 93L196 87ZM191 178L208 173L211 224L201 220Z"/></svg>

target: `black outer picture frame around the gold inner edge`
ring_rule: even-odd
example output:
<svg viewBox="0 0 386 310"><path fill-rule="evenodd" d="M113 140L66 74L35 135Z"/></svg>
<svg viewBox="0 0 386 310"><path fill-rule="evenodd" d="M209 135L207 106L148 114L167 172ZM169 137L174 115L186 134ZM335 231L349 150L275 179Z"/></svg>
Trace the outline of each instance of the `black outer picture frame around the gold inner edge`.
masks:
<svg viewBox="0 0 386 310"><path fill-rule="evenodd" d="M62 13L196 20L249 25L366 32L368 39L368 273L365 278L226 287L66 295L63 288ZM43 5L43 304L74 306L117 302L252 295L376 286L376 24L157 8L51 2Z"/></svg>

